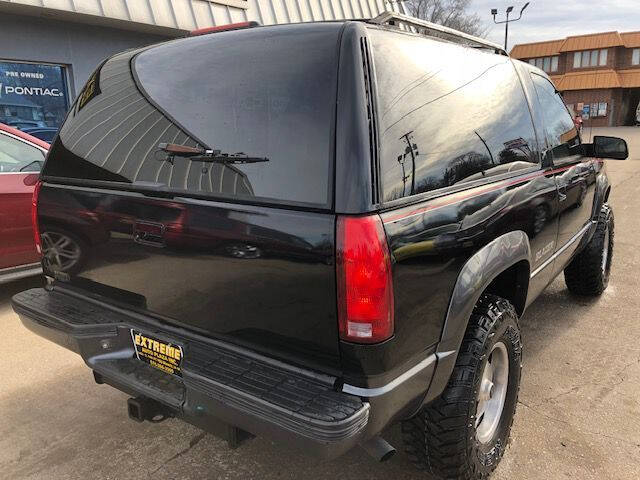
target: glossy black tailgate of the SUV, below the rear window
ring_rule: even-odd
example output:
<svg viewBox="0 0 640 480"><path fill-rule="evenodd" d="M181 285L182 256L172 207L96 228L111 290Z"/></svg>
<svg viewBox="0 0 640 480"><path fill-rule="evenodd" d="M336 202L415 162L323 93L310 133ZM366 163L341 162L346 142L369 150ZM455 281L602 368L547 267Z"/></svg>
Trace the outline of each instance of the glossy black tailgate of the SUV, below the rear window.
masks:
<svg viewBox="0 0 640 480"><path fill-rule="evenodd" d="M42 232L81 246L49 274L269 356L337 368L331 214L44 184Z"/></svg>

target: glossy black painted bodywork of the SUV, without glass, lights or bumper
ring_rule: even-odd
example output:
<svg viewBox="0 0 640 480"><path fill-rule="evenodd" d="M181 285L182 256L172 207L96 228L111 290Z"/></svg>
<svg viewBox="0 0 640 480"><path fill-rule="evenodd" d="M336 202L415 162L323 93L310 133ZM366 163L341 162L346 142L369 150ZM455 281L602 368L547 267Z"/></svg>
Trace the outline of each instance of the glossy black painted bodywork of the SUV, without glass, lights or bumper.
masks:
<svg viewBox="0 0 640 480"><path fill-rule="evenodd" d="M79 274L47 272L57 278L53 287L334 375L338 387L370 401L366 436L435 398L480 294L505 296L522 314L589 240L610 186L601 161L576 155L554 162L527 79L534 70L518 63L540 164L383 203L378 87L366 38L363 23L345 23L333 208L154 198L151 187L45 175L40 221L91 245ZM49 161L61 151L54 145ZM393 256L395 333L380 344L357 345L338 341L335 219L372 213L383 221ZM162 242L136 241L140 221L161 225ZM229 245L260 253L230 258Z"/></svg>

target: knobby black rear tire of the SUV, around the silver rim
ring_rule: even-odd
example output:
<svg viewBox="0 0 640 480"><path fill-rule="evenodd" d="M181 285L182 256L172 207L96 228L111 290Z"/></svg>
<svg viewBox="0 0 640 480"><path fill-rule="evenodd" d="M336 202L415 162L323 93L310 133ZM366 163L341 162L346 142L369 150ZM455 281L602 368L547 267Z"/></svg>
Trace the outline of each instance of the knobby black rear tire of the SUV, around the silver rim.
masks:
<svg viewBox="0 0 640 480"><path fill-rule="evenodd" d="M493 437L476 438L478 391L487 355L503 342L509 360L508 386ZM518 402L522 342L518 315L507 300L483 295L469 319L456 365L440 397L402 422L405 453L414 465L437 478L481 480L502 458Z"/></svg>

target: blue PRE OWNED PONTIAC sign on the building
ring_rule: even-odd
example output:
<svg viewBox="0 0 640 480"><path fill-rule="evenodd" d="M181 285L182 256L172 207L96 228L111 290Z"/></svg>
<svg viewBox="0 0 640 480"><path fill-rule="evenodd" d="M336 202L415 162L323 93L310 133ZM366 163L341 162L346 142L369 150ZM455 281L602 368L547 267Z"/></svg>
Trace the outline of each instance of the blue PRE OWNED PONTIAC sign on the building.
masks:
<svg viewBox="0 0 640 480"><path fill-rule="evenodd" d="M64 67L0 62L0 122L27 131L57 129L68 106Z"/></svg>

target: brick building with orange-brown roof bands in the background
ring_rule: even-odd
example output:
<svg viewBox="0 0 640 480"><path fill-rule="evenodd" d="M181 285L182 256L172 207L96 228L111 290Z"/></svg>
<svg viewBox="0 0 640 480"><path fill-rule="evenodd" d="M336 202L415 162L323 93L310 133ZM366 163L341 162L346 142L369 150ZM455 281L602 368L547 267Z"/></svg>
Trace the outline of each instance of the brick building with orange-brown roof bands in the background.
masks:
<svg viewBox="0 0 640 480"><path fill-rule="evenodd" d="M511 56L547 72L585 125L635 123L640 101L640 32L604 32L516 45Z"/></svg>

